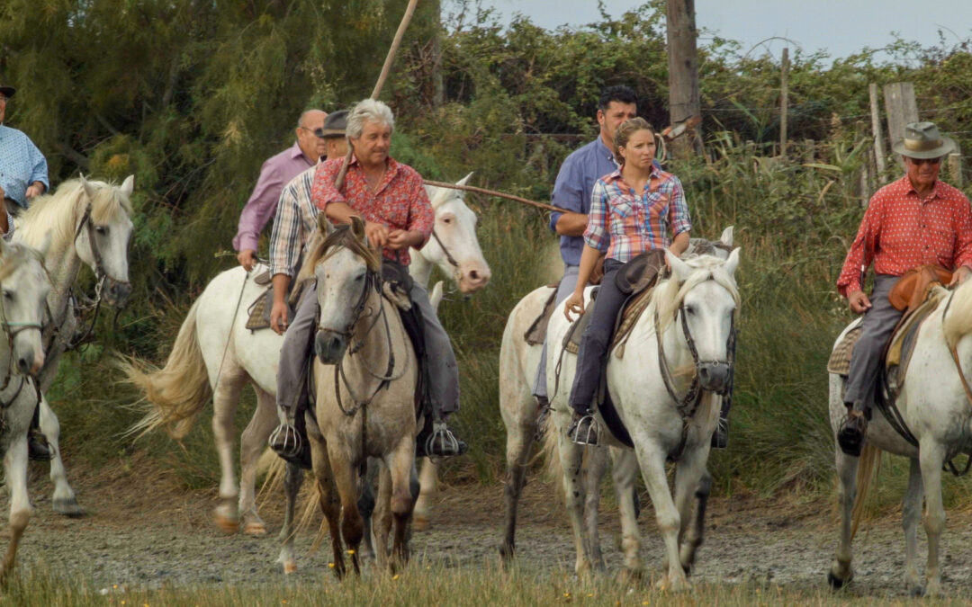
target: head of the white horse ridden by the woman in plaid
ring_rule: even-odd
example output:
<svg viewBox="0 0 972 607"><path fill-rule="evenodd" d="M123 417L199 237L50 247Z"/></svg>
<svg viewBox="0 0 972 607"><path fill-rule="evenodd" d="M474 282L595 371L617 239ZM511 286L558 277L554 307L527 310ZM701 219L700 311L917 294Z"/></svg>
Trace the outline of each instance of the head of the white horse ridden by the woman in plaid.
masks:
<svg viewBox="0 0 972 607"><path fill-rule="evenodd" d="M701 255L679 259L666 253L672 268L670 286L662 289L659 318L676 318L692 354L703 389L724 394L730 387L735 343L735 321L739 312L736 268L739 249L727 259Z"/></svg>

